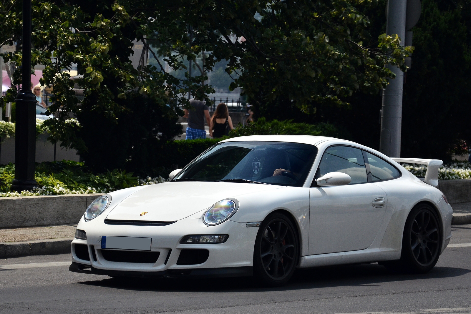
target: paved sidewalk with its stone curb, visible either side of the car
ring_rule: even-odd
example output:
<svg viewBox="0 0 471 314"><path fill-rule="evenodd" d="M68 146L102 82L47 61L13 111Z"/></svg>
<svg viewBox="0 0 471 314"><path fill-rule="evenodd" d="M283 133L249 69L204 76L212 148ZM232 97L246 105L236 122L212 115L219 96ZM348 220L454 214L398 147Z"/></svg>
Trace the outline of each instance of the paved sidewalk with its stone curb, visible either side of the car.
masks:
<svg viewBox="0 0 471 314"><path fill-rule="evenodd" d="M471 202L453 204L453 225L471 224ZM0 258L70 253L77 225L0 229Z"/></svg>

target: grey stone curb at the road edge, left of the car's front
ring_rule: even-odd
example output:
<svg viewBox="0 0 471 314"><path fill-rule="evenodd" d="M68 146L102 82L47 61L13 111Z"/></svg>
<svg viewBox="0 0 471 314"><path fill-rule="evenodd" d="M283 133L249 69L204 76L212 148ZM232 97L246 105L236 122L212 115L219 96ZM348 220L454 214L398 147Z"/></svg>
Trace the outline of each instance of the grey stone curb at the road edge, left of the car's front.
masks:
<svg viewBox="0 0 471 314"><path fill-rule="evenodd" d="M0 242L0 258L70 253L72 240L73 238L59 238L25 242Z"/></svg>

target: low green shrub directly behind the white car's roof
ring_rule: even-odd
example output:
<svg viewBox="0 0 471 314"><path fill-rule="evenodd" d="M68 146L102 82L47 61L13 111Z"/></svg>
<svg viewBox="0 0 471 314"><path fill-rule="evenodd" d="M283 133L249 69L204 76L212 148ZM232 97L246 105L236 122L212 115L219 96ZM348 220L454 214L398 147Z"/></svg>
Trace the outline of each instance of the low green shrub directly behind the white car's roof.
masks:
<svg viewBox="0 0 471 314"><path fill-rule="evenodd" d="M292 120L267 121L264 117L255 122L243 126L239 125L230 131L230 137L239 137L246 135L265 135L265 134L292 134L292 135L320 135L328 137L338 137L337 129L329 123L293 123Z"/></svg>

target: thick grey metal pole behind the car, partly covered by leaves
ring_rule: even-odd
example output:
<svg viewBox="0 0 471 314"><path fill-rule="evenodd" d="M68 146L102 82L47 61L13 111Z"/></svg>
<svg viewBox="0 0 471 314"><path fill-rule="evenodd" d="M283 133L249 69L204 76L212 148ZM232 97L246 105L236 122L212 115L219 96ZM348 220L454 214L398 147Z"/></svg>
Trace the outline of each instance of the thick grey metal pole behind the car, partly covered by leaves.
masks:
<svg viewBox="0 0 471 314"><path fill-rule="evenodd" d="M406 8L407 0L388 1L386 34L398 34L401 46L406 38ZM389 80L383 89L380 152L389 157L400 157L404 72L396 66L389 68L396 78Z"/></svg>

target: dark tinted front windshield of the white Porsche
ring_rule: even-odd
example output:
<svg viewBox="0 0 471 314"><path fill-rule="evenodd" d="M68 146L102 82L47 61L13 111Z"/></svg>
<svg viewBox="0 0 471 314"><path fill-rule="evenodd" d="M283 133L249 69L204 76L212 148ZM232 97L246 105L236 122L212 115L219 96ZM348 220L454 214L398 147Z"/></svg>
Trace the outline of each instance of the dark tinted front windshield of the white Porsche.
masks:
<svg viewBox="0 0 471 314"><path fill-rule="evenodd" d="M314 145L226 142L191 162L172 181L227 181L302 186L316 158Z"/></svg>

